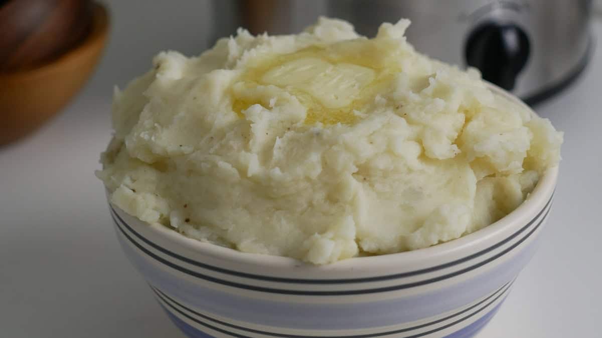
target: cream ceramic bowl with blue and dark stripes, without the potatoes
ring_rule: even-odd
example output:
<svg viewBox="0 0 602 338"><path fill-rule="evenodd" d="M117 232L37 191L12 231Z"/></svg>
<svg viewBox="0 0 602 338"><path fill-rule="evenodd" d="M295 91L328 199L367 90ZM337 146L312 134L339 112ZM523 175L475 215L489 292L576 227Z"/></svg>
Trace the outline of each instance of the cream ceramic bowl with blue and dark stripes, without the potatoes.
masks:
<svg viewBox="0 0 602 338"><path fill-rule="evenodd" d="M471 337L533 256L557 174L548 169L523 204L477 232L323 266L241 253L110 212L126 256L190 337Z"/></svg>

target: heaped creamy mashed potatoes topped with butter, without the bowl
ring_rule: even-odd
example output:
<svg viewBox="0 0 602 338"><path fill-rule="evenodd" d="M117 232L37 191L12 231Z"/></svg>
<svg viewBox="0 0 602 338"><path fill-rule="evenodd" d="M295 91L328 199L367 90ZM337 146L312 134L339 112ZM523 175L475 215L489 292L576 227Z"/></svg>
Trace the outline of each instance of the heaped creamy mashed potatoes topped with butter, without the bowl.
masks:
<svg viewBox="0 0 602 338"><path fill-rule="evenodd" d="M162 52L116 91L111 201L200 241L315 264L429 247L497 221L559 161L550 121L479 73L320 19Z"/></svg>

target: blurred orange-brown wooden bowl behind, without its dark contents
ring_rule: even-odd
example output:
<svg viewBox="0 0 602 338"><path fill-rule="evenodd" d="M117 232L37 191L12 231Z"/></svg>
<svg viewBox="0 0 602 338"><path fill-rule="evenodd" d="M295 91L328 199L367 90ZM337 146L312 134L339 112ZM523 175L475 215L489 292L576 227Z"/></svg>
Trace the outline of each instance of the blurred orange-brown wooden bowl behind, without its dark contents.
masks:
<svg viewBox="0 0 602 338"><path fill-rule="evenodd" d="M0 73L0 144L33 132L69 103L98 63L108 25L107 10L95 4L90 34L79 45L34 69Z"/></svg>

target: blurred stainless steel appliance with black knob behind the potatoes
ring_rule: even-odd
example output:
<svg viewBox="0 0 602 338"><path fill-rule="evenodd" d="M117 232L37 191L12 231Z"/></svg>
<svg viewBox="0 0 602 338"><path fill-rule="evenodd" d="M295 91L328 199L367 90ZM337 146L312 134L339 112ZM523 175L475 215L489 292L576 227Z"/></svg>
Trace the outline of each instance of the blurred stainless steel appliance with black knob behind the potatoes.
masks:
<svg viewBox="0 0 602 338"><path fill-rule="evenodd" d="M381 22L408 17L408 40L418 51L477 67L528 103L576 78L592 45L591 0L249 0L231 6L238 7L240 25L271 34L298 32L324 15L373 35Z"/></svg>

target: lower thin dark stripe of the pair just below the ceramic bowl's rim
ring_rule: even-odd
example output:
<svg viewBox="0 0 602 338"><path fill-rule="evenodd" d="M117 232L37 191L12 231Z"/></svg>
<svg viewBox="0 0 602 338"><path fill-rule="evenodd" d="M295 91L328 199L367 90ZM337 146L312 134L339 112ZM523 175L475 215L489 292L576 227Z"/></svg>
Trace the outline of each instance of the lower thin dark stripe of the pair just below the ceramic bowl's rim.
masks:
<svg viewBox="0 0 602 338"><path fill-rule="evenodd" d="M510 251L514 250L514 248L518 247L518 245L522 244L524 241L526 241L527 238L529 238L533 233L535 233L535 231L538 230L539 226L541 226L541 224L544 223L545 219L547 218L547 215L550 212L550 208L551 208L551 201L552 201L552 198L550 198L550 201L548 201L548 203L546 204L547 208L542 209L541 212L538 214L538 217L539 217L545 211L545 214L541 218L541 220L539 220L539 222L535 225L535 227L533 227L532 230L530 230L525 236L523 236L523 238L521 238L520 240L518 240L517 242L512 244L510 247L504 249L500 253L497 253L494 256L488 257L487 259L482 260L479 263L468 266L467 268L459 269L457 271L453 271L453 272L450 272L445 275L440 275L438 277L428 278L426 280L416 281L416 282L412 282L412 283L396 284L394 286L388 286L388 287L377 287L377 288L373 288L373 289L328 290L328 291L276 289L273 287L262 287L262 286L256 286L256 285L250 285L250 284L237 283L234 281L223 280L220 278L211 277L209 275L200 274L199 272L192 271L190 269L179 266L170 260L164 259L163 257L160 257L157 254L152 253L147 248L144 248L143 245L139 244L131 236L129 236L128 233L126 233L126 231L122 227L125 227L126 229L129 230L129 232L134 233L134 235L140 237L141 239L143 239L144 242L149 243L149 245L151 245L152 247L160 248L158 250L160 250L162 252L164 250L167 251L166 249L159 247L157 244L154 244L154 243L148 241L146 238L141 237L140 234L138 234L133 229L131 229L131 227L129 227L128 224L126 224L122 220L122 218L120 218L119 215L117 215L117 212L113 209L113 207L111 207L111 217L113 217L113 221L115 222L115 224L116 224L117 228L120 230L120 232L122 232L123 236L125 236L125 238L127 238L128 241L130 241L132 244L134 244L139 250L143 251L147 256L152 257L153 259L157 260L158 262L161 262L164 265L167 265L170 268L176 269L184 274L188 274L188 275L191 275L196 278L200 278L200 279L203 279L206 281L211 281L211 282L217 283L217 284L222 284L225 286L237 287L239 289L253 290L253 291L258 291L258 292L279 293L282 295L342 296L342 295L361 295L361 294L365 294L365 293L378 293L378 292L389 292L389 291L394 291L394 290L409 289L411 287L423 286L426 284L443 281L448 278L453 278L458 275L473 271L474 269L480 268L481 266L491 263L494 260L503 256L504 254L507 254ZM116 217L119 219L119 221L116 219ZM533 221L535 221L535 219ZM529 224L527 224L527 226L523 227L523 229L528 229L528 227L533 224L533 221L529 222ZM514 236L514 235L512 235L512 236Z"/></svg>

